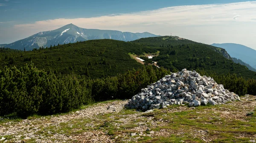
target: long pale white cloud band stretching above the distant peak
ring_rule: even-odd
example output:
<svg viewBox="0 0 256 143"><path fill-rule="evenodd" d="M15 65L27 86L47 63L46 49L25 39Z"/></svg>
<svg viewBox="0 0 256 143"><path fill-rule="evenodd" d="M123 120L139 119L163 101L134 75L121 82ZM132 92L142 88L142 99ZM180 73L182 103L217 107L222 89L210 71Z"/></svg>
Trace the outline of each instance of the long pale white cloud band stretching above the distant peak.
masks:
<svg viewBox="0 0 256 143"><path fill-rule="evenodd" d="M230 22L232 20L236 20L237 22L253 21L252 19L256 15L255 9L256 1L214 5L174 6L130 14L44 20L32 24L15 25L15 27L59 27L71 22L86 28L114 28L117 26L133 25L212 25L223 24L223 22ZM239 19L237 17L239 17Z"/></svg>

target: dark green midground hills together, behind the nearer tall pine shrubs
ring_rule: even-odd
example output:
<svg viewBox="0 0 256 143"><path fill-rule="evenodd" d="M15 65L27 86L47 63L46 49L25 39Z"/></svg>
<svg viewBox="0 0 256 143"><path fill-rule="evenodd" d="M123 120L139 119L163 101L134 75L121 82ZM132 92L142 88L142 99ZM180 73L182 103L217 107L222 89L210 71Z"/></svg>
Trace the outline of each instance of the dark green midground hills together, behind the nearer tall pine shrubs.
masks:
<svg viewBox="0 0 256 143"><path fill-rule="evenodd" d="M137 55L135 57L144 58L152 55L154 57L148 59L148 63L153 60L157 65L170 70L199 68L207 72L236 73L256 79L255 72L227 59L220 51L225 50L187 39L173 39L170 36L142 38L132 42L98 39L26 52L0 49L0 68L5 65L22 67L32 61L39 69L99 78L143 67L134 56L134 59L131 58L129 53L133 53Z"/></svg>

